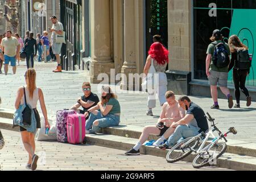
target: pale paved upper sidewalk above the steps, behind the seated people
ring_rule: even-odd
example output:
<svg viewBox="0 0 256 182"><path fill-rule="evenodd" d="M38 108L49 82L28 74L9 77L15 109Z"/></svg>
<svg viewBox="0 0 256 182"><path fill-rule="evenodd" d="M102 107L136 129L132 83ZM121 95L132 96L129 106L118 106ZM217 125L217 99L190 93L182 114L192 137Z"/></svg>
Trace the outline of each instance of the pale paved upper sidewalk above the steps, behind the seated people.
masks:
<svg viewBox="0 0 256 182"><path fill-rule="evenodd" d="M43 89L46 106L49 115L54 115L56 110L69 108L76 104L78 97L82 95L81 85L84 81L89 81L88 71L71 71L63 73L53 73L56 63L35 63L37 71L37 85ZM0 96L3 104L1 107L14 109L16 90L19 86L25 84L24 72L26 67L24 62L17 69L17 74L0 75ZM11 72L11 69L9 69ZM93 84L92 90L97 93L99 85ZM121 91L118 86L113 86L116 91ZM146 116L147 94L142 92L125 92L118 93L118 100L121 104L122 115L121 125L146 126L154 125L160 114L159 101L157 107L153 110L155 117ZM212 105L211 98L191 97L192 101L200 105L205 112L209 111L212 117L216 118L218 127L225 132L229 127L236 127L237 135L230 134L228 138L244 140L246 142L256 141L256 103L253 102L251 107L245 107L245 101L241 102L243 109L228 109L228 101L220 100L220 110L210 110ZM40 112L40 106L38 105Z"/></svg>

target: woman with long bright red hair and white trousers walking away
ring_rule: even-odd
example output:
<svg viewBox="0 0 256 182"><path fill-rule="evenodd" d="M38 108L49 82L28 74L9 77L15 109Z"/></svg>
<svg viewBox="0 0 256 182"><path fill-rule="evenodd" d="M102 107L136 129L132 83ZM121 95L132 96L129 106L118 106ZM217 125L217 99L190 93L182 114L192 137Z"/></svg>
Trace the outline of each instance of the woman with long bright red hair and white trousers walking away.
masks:
<svg viewBox="0 0 256 182"><path fill-rule="evenodd" d="M163 106L164 102L166 102L165 94L167 92L167 76L165 72L169 61L168 55L169 51L159 42L153 43L148 51L146 65L144 67L144 76L148 75L148 71L153 63L156 71L155 76L158 76L159 80L155 79L157 82L157 84L154 84L155 88L152 88L150 92L148 90L147 115L153 115L152 109L156 107L156 93L158 93L160 106Z"/></svg>

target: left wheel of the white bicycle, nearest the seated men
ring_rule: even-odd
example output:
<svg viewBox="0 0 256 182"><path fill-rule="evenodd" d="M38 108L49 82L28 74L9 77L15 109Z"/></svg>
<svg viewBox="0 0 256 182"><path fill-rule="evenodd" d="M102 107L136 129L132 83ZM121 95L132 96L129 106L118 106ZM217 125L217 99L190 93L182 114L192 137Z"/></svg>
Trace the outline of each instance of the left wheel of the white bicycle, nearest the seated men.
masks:
<svg viewBox="0 0 256 182"><path fill-rule="evenodd" d="M195 148L199 144L199 140L193 140L189 143L187 143L183 148L181 146L191 140L193 137L184 139L180 143L177 143L174 147L171 148L171 150L166 155L166 160L168 163L175 163L179 160L184 159L188 155L192 153L190 148Z"/></svg>

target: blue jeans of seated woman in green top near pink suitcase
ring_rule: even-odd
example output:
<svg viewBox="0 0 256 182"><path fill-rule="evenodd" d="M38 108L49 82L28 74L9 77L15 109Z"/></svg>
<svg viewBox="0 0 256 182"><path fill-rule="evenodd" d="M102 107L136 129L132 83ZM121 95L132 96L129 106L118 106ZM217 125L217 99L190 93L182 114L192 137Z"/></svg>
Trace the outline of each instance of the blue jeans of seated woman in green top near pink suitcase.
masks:
<svg viewBox="0 0 256 182"><path fill-rule="evenodd" d="M98 120L98 126L93 126L93 122ZM102 127L118 126L120 123L120 116L115 114L102 115L97 111L97 115L90 114L89 119L86 121L85 128L90 131L90 134L96 133Z"/></svg>

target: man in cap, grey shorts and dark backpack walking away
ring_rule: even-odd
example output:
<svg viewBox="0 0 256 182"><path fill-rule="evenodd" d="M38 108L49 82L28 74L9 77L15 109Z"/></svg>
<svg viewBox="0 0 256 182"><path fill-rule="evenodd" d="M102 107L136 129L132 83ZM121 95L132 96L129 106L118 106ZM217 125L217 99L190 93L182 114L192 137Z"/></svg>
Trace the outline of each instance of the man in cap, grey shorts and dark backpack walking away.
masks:
<svg viewBox="0 0 256 182"><path fill-rule="evenodd" d="M220 86L221 92L228 98L229 109L233 107L233 97L228 89L228 72L230 64L230 49L228 44L223 42L223 36L220 30L214 30L210 38L212 43L207 49L206 74L210 84L210 92L214 101L211 109L220 109L218 105L217 85Z"/></svg>

